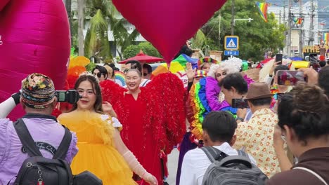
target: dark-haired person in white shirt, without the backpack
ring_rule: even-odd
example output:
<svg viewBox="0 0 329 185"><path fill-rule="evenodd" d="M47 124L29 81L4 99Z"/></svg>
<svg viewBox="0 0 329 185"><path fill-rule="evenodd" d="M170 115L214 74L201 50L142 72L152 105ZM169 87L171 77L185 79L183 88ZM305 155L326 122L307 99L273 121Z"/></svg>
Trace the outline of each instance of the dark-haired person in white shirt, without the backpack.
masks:
<svg viewBox="0 0 329 185"><path fill-rule="evenodd" d="M236 119L226 111L212 111L202 123L202 140L204 146L214 146L228 156L238 156L232 146L236 142ZM250 161L256 165L252 156ZM212 163L201 149L188 151L183 158L181 167L181 184L202 184L203 176Z"/></svg>

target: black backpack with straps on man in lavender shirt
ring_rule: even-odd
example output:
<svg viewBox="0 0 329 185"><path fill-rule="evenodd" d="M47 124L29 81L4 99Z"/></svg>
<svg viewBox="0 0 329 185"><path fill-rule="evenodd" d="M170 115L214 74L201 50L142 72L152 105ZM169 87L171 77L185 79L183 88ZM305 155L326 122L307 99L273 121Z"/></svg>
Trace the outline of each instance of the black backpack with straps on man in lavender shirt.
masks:
<svg viewBox="0 0 329 185"><path fill-rule="evenodd" d="M14 183L15 185L73 185L72 171L70 165L65 160L72 139L70 130L63 126L65 135L51 159L42 156L22 118L13 123L13 126L20 138L20 142L22 142L22 150L25 150L30 156L22 163Z"/></svg>

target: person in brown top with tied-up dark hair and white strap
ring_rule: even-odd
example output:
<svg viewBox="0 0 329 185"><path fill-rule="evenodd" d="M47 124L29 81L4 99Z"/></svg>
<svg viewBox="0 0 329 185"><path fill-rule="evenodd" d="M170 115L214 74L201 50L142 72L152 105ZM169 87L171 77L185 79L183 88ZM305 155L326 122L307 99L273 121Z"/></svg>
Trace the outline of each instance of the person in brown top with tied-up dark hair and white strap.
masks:
<svg viewBox="0 0 329 185"><path fill-rule="evenodd" d="M280 142L275 145L278 160L291 169L274 175L266 184L329 184L328 111L328 97L316 85L299 84L283 96L274 137ZM298 158L292 167L280 136Z"/></svg>

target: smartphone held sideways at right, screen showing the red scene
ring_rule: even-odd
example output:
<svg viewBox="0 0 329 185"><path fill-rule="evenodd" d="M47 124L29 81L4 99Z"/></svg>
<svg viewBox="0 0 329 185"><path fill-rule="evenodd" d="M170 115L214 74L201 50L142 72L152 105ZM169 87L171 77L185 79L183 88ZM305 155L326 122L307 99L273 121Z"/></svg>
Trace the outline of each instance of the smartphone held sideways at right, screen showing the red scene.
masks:
<svg viewBox="0 0 329 185"><path fill-rule="evenodd" d="M299 81L307 81L302 71L279 70L278 85L297 85Z"/></svg>

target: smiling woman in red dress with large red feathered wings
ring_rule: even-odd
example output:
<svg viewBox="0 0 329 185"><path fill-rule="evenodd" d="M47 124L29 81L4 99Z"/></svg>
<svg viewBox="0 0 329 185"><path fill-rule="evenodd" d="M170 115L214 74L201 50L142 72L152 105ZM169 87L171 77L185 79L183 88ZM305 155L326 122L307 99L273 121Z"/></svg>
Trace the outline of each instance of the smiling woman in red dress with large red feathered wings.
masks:
<svg viewBox="0 0 329 185"><path fill-rule="evenodd" d="M163 184L167 154L186 131L183 83L174 74L160 74L140 88L141 72L129 69L127 89L103 81L103 100L112 104L123 125L122 139L138 161ZM136 181L142 183L138 177Z"/></svg>

